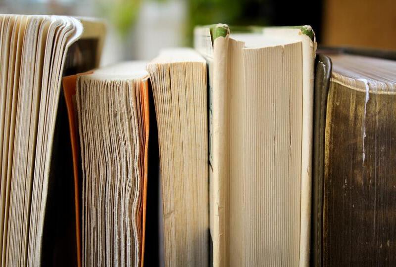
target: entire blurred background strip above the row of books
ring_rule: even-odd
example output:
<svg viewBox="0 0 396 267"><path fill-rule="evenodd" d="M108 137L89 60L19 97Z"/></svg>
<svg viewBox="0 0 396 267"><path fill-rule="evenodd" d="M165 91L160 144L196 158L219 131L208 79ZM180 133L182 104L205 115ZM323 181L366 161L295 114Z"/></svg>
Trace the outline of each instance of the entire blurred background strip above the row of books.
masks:
<svg viewBox="0 0 396 267"><path fill-rule="evenodd" d="M396 49L395 0L0 0L1 13L94 16L102 64L191 46L195 25L311 25L321 45Z"/></svg>

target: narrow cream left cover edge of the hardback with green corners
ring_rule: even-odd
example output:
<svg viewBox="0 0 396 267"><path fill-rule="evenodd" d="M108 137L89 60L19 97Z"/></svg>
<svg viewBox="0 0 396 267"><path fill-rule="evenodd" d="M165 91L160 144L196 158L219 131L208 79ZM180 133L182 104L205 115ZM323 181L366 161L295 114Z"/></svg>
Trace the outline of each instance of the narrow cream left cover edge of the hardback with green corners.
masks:
<svg viewBox="0 0 396 267"><path fill-rule="evenodd" d="M213 266L228 265L226 251L226 199L229 177L229 94L227 85L228 36L213 42L212 167Z"/></svg>

